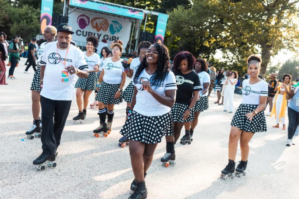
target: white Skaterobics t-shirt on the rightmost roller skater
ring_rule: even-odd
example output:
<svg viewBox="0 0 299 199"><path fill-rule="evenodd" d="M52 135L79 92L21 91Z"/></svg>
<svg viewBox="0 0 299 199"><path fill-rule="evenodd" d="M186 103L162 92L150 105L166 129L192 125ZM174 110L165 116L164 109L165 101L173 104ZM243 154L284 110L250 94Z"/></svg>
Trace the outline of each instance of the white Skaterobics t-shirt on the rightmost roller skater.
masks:
<svg viewBox="0 0 299 199"><path fill-rule="evenodd" d="M242 101L241 104L259 104L259 97L268 97L268 83L260 81L256 84L250 85L249 79L242 82Z"/></svg>

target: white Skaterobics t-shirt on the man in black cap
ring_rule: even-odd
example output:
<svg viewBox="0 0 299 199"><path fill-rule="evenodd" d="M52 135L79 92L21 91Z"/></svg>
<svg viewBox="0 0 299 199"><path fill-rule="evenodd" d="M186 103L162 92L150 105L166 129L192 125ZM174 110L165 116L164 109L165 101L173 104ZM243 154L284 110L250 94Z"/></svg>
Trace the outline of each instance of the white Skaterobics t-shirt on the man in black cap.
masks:
<svg viewBox="0 0 299 199"><path fill-rule="evenodd" d="M40 65L46 66L40 95L52 100L72 100L75 94L77 75L69 74L69 80L62 81L62 71L65 71L65 67L73 65L80 70L88 71L84 53L80 49L70 45L69 50L61 50L57 47L57 41L45 45Z"/></svg>

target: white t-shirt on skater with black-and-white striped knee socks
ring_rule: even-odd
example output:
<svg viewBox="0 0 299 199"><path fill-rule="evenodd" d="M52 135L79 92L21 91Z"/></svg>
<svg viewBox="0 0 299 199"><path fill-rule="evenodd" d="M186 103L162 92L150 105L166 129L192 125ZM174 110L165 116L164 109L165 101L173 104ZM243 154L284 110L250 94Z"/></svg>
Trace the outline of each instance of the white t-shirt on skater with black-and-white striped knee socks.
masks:
<svg viewBox="0 0 299 199"><path fill-rule="evenodd" d="M104 77L103 81L107 84L120 84L122 79L122 72L125 71L122 67L123 59L113 62L111 57L106 58L103 64Z"/></svg>

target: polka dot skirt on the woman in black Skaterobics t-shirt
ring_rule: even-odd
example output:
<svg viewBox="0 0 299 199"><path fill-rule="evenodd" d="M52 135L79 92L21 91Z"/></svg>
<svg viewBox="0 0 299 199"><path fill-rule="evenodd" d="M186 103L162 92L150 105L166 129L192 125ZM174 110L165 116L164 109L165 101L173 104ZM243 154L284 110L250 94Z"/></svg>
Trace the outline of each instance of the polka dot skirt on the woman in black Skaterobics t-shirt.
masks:
<svg viewBox="0 0 299 199"><path fill-rule="evenodd" d="M184 112L188 108L186 104L175 103L171 108L170 114L172 122L192 122L194 121L194 112L192 111L189 117L183 120Z"/></svg>

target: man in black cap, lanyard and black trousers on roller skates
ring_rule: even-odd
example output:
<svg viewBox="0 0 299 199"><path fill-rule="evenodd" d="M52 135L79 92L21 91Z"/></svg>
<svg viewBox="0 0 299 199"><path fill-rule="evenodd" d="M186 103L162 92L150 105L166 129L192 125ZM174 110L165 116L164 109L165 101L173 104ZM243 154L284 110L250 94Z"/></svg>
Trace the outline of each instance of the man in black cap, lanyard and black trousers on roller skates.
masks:
<svg viewBox="0 0 299 199"><path fill-rule="evenodd" d="M56 150L75 94L75 75L81 78L88 77L88 65L83 52L70 45L72 34L74 32L68 24L59 24L57 42L45 46L40 60L43 152L33 164L42 170L45 165L54 164ZM51 161L51 164L48 164L47 160Z"/></svg>

